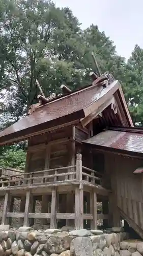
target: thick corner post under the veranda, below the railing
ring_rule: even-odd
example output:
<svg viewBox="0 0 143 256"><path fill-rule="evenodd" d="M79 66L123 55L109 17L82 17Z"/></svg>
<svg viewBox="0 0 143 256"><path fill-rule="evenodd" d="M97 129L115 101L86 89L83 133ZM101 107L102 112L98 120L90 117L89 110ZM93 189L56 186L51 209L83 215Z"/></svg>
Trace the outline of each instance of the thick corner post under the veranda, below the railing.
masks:
<svg viewBox="0 0 143 256"><path fill-rule="evenodd" d="M83 228L83 186L75 188L75 229Z"/></svg>

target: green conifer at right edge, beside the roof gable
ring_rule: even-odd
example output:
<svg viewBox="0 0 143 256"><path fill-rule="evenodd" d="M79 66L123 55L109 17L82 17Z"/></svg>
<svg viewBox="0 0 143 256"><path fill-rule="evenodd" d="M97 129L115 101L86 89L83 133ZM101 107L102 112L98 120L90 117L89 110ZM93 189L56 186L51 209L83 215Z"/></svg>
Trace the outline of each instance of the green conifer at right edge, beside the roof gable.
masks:
<svg viewBox="0 0 143 256"><path fill-rule="evenodd" d="M135 125L143 125L143 50L135 45L127 61L123 89Z"/></svg>

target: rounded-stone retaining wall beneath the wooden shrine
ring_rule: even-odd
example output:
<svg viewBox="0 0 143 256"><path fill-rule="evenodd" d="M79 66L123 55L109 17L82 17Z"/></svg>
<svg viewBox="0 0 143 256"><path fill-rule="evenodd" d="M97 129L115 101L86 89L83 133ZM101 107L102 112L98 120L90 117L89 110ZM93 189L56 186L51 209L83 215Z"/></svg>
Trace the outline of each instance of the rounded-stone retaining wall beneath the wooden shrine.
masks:
<svg viewBox="0 0 143 256"><path fill-rule="evenodd" d="M126 233L103 233L100 230L58 229L0 232L0 256L141 256L143 242L123 241Z"/></svg>

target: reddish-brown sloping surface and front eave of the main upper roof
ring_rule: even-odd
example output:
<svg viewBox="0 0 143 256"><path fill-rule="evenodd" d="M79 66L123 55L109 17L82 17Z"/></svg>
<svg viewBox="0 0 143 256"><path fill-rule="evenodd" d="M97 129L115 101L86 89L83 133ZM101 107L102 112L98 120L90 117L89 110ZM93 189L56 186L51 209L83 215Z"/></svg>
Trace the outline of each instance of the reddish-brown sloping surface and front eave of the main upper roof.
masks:
<svg viewBox="0 0 143 256"><path fill-rule="evenodd" d="M2 131L0 145L9 143L9 141L18 141L18 138L23 136L28 138L37 131L42 132L50 127L81 119L85 117L84 108L98 101L113 88L118 89L120 86L118 81L113 81L105 89L90 86L41 105L31 115L21 118Z"/></svg>

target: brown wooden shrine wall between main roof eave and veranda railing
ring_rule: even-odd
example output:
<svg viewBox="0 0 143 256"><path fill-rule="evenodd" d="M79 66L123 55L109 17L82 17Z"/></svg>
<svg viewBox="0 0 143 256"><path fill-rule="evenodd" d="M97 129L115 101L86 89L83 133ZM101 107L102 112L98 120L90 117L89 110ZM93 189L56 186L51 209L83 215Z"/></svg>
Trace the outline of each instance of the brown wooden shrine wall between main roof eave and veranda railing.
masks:
<svg viewBox="0 0 143 256"><path fill-rule="evenodd" d="M75 165L76 154L82 152L81 141L88 131L68 126L32 137L28 141L25 172Z"/></svg>

